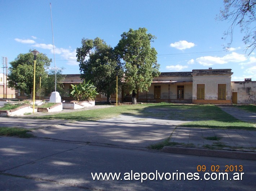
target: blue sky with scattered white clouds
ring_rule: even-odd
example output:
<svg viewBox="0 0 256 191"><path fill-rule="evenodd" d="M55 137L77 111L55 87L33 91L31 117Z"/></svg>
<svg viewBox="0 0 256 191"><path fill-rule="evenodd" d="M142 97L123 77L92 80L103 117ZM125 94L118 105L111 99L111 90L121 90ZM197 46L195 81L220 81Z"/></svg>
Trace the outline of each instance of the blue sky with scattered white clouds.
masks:
<svg viewBox="0 0 256 191"><path fill-rule="evenodd" d="M222 0L0 0L0 56L11 62L36 49L54 67L54 37L56 67L79 74L76 48L82 38L99 37L114 48L123 32L145 27L156 37L151 46L160 72L212 67L232 69L232 81L256 81L256 51L245 52L239 27L231 48L224 48L230 23L216 19L223 6Z"/></svg>

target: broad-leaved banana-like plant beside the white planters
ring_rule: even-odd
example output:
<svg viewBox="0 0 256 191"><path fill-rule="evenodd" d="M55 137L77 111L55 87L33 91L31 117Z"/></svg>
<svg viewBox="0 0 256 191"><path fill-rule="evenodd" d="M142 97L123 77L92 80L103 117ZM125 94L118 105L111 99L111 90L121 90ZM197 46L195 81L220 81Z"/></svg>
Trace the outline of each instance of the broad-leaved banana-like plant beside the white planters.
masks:
<svg viewBox="0 0 256 191"><path fill-rule="evenodd" d="M90 84L90 80L87 82L85 82L84 80L83 83L80 83L78 85L71 84L71 87L72 89L70 89L70 95L76 98L77 101L92 101L96 98L96 95L98 95L98 93L96 92L96 87L92 83Z"/></svg>

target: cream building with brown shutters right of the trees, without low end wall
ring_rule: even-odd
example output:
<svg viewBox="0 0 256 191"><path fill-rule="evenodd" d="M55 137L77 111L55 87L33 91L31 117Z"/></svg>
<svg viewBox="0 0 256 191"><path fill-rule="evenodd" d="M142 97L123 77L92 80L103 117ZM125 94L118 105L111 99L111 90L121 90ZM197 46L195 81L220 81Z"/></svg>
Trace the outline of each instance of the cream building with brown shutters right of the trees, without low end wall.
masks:
<svg viewBox="0 0 256 191"><path fill-rule="evenodd" d="M138 94L138 102L232 104L231 69L163 72L153 79L148 92ZM126 97L128 99L128 97Z"/></svg>

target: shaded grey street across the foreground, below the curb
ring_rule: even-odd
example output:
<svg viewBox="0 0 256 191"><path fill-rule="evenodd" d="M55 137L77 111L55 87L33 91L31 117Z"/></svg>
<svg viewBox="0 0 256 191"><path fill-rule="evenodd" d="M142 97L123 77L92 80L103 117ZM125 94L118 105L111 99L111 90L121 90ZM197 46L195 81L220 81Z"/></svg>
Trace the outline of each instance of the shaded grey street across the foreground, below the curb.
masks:
<svg viewBox="0 0 256 191"><path fill-rule="evenodd" d="M119 149L65 141L0 138L1 190L255 190L256 162L215 157ZM242 180L204 180L219 166L242 165ZM212 167L214 170L214 168ZM131 173L133 171L133 173ZM125 173L199 173L203 180L124 180ZM123 180L93 180L91 173L121 173ZM208 173L209 173L208 172ZM216 173L216 172L215 172ZM240 174L240 172L239 172ZM214 174L213 174L214 175ZM206 178L210 176L207 175ZM135 177L136 178L136 177ZM145 176L144 176L145 178ZM153 179L153 174L151 174ZM189 177L190 178L190 177ZM215 175L213 176L215 178ZM128 179L126 177L126 179ZM164 178L163 178L164 179Z"/></svg>

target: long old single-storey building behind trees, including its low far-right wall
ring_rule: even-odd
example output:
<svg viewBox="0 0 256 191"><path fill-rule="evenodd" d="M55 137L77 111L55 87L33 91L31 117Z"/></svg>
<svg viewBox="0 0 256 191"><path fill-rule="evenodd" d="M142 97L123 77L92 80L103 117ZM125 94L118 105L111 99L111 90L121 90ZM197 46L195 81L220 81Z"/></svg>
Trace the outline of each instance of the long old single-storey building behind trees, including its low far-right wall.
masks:
<svg viewBox="0 0 256 191"><path fill-rule="evenodd" d="M137 102L169 102L194 104L256 104L256 81L231 81L231 69L200 69L188 72L163 72L153 79L148 91L137 93ZM67 94L71 84L83 80L80 74L67 74L62 81ZM43 98L43 97L42 97ZM49 97L45 97L48 98ZM62 97L72 100L72 97ZM96 101L106 101L99 94ZM116 101L116 95L111 95ZM118 102L131 102L132 95L125 89L118 94Z"/></svg>

